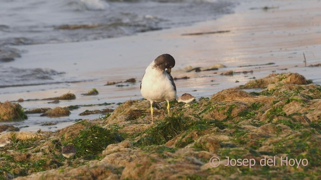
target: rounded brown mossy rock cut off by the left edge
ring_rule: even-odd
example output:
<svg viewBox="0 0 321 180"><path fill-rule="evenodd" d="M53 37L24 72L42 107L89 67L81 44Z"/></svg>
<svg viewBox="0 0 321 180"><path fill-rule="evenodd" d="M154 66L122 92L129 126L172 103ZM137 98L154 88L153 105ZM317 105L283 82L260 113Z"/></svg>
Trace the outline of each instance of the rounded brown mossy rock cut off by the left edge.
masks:
<svg viewBox="0 0 321 180"><path fill-rule="evenodd" d="M19 103L0 102L0 121L24 119L27 119L27 115Z"/></svg>

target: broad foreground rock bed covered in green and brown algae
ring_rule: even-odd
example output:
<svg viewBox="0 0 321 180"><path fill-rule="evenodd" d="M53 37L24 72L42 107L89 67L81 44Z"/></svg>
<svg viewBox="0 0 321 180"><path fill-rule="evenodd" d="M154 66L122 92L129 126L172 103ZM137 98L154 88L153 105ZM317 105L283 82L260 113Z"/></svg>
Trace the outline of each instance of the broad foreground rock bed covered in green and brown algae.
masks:
<svg viewBox="0 0 321 180"><path fill-rule="evenodd" d="M278 80L286 78L292 75ZM18 179L317 179L321 86L280 81L267 82L259 92L224 89L190 107L171 101L171 116L167 103L160 103L154 124L148 101L128 100L101 119L12 141L0 152L0 165L15 177L27 175ZM66 144L79 152L68 163L61 155ZM213 156L220 158L217 167ZM308 165L281 166L285 156L306 159ZM251 158L256 164L225 165L227 157ZM261 159L273 157L275 166L260 165Z"/></svg>

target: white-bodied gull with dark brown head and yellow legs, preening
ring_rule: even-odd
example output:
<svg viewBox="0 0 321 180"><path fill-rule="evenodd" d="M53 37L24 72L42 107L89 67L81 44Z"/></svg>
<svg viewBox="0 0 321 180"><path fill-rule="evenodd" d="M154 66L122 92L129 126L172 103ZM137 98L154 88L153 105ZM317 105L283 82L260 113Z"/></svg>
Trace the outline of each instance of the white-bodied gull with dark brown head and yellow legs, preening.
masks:
<svg viewBox="0 0 321 180"><path fill-rule="evenodd" d="M167 110L170 115L170 100L176 99L176 85L171 75L175 59L170 54L159 55L146 68L140 83L141 95L150 102L151 123L153 102L167 101Z"/></svg>

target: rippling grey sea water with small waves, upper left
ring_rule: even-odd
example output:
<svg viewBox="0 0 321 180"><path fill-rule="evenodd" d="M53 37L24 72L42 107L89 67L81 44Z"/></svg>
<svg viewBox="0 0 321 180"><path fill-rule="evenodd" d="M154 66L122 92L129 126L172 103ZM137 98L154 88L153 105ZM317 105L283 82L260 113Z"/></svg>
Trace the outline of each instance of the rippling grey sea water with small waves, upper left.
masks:
<svg viewBox="0 0 321 180"><path fill-rule="evenodd" d="M186 26L230 13L237 1L0 0L0 87L92 80L66 77L66 70L32 62L20 62L31 64L28 68L8 66L27 53L10 45L88 41Z"/></svg>

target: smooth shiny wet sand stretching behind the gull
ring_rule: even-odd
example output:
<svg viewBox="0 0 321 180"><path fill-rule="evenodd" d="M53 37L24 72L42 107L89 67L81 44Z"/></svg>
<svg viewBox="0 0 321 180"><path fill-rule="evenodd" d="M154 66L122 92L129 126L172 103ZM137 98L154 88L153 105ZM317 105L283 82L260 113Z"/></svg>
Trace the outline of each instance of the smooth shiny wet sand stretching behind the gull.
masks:
<svg viewBox="0 0 321 180"><path fill-rule="evenodd" d="M271 7L264 9L263 7ZM174 77L189 76L189 79L176 80L178 95L191 93L197 98L210 96L222 89L241 85L250 78L260 78L271 72L298 72L314 83L321 84L320 67L305 67L320 63L321 2L318 0L263 0L242 3L236 13L225 15L217 20L197 23L190 27L180 27L161 31L140 33L133 36L111 38L87 42L63 44L40 44L17 46L27 50L22 58L6 63L6 66L20 68L52 68L66 72L68 79L84 80L77 83L59 83L0 89L0 101L19 98L35 99L59 96L70 91L76 94L75 100L48 104L48 101L25 101L20 104L26 108L55 107L75 104L98 104L103 102L123 102L142 98L139 92L141 76L146 66L156 56L170 53L176 59ZM204 33L228 31L224 33ZM271 65L244 66L250 64ZM201 72L182 72L186 66L226 65L219 70ZM231 76L220 75L226 71L249 71ZM136 78L136 83L128 86L104 86L107 81L124 81ZM236 82L239 81L239 82ZM125 84L127 85L127 84ZM96 88L96 96L83 96L88 90ZM195 91L196 90L196 91ZM28 124L33 121L65 121L51 128L56 130L69 125L78 118L98 118L99 115L79 116L86 109L103 109L108 106L82 107L71 111L69 117L48 118L37 114L17 126L30 125L21 130L47 130L50 126ZM13 122L12 124L15 124ZM6 123L11 124L11 123ZM16 123L17 124L17 123Z"/></svg>

